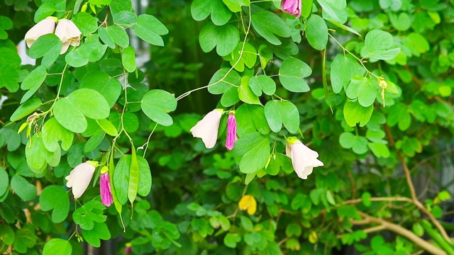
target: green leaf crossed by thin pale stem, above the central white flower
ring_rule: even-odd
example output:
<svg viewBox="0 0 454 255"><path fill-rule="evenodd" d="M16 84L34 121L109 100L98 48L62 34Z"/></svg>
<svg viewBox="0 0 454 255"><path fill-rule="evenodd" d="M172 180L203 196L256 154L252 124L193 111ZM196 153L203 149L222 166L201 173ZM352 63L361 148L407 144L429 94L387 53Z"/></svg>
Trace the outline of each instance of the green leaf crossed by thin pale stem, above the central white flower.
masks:
<svg viewBox="0 0 454 255"><path fill-rule="evenodd" d="M213 75L213 77L211 77L208 87L209 93L215 95L223 94L228 89L231 89L233 87L231 84L240 86L240 74L238 74L238 72L236 72L235 70L228 72L229 70L230 69L228 67L221 68Z"/></svg>

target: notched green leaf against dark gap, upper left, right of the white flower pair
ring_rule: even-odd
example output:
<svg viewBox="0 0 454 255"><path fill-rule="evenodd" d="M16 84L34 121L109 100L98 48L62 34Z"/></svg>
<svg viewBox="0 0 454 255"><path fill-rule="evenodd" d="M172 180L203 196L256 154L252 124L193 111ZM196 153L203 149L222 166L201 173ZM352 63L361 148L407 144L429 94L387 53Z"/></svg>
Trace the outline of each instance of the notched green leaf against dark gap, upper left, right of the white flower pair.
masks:
<svg viewBox="0 0 454 255"><path fill-rule="evenodd" d="M138 38L157 46L164 46L160 35L169 33L169 30L157 18L148 14L140 14L133 29Z"/></svg>

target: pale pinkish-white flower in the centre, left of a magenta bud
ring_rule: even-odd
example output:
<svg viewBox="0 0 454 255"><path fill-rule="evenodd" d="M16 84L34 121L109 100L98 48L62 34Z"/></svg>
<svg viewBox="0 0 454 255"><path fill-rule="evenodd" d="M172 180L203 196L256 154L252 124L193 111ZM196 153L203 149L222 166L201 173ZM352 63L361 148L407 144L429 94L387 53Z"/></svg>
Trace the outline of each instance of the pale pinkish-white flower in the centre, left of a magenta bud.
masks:
<svg viewBox="0 0 454 255"><path fill-rule="evenodd" d="M201 138L206 149L211 149L216 145L222 112L222 109L214 109L189 130L193 137Z"/></svg>

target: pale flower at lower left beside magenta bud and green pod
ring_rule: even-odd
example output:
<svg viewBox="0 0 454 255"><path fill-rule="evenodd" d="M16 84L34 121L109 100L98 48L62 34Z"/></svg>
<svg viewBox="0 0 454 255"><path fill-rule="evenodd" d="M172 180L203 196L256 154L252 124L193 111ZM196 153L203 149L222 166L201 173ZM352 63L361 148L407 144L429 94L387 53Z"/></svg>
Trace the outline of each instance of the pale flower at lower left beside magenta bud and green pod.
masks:
<svg viewBox="0 0 454 255"><path fill-rule="evenodd" d="M72 169L69 176L66 176L66 186L72 188L74 198L80 198L89 186L94 174L94 169L98 162L87 161L77 165Z"/></svg>

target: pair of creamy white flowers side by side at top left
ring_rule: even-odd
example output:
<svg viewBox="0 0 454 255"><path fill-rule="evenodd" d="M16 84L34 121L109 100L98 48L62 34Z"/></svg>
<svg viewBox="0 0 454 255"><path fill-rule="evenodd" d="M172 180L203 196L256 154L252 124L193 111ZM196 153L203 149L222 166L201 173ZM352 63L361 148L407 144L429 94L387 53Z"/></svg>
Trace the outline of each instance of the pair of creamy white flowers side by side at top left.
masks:
<svg viewBox="0 0 454 255"><path fill-rule="evenodd" d="M57 23L57 28L55 28L55 23ZM77 28L74 22L67 20L66 18L58 20L55 17L47 17L28 30L25 36L27 46L31 47L38 38L43 35L54 33L54 30L55 35L60 38L60 41L63 44L60 55L65 54L70 45L74 47L79 46L80 35L82 35L79 28Z"/></svg>

